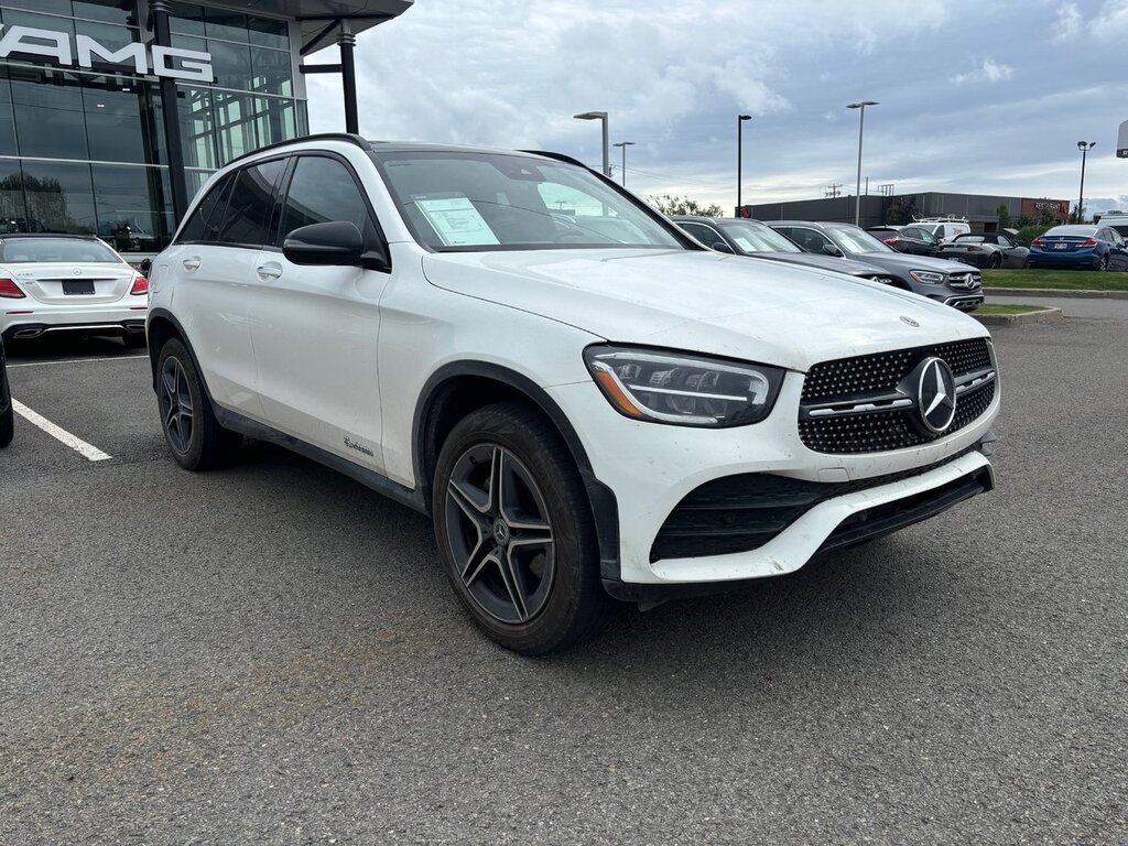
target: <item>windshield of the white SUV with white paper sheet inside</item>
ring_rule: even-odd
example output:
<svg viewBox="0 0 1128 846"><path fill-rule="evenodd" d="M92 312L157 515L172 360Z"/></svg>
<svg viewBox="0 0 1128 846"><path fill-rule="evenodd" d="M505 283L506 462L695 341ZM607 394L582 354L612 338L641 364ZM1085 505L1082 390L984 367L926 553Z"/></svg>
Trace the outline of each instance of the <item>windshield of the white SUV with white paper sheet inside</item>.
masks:
<svg viewBox="0 0 1128 846"><path fill-rule="evenodd" d="M446 150L373 158L415 239L438 252L685 248L643 206L574 165Z"/></svg>

